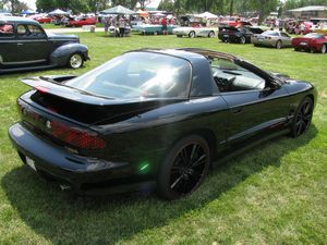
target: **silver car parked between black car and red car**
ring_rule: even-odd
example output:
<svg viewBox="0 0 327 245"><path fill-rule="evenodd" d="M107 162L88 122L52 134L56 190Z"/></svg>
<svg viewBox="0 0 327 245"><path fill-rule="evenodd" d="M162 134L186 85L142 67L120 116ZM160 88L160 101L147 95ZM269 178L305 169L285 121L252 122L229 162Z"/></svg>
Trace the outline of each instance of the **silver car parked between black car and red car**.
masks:
<svg viewBox="0 0 327 245"><path fill-rule="evenodd" d="M284 32L266 30L262 34L255 34L251 37L254 46L274 47L277 49L292 47L292 38Z"/></svg>

